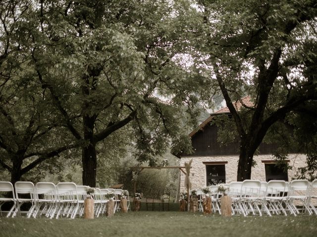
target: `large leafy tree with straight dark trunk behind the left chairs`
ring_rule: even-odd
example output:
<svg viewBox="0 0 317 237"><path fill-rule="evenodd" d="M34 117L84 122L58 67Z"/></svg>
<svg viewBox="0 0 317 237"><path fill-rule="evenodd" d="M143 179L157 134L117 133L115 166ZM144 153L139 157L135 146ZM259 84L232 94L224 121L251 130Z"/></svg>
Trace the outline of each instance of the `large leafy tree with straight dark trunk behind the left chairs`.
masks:
<svg viewBox="0 0 317 237"><path fill-rule="evenodd" d="M27 12L19 44L68 139L81 144L84 185L96 185L98 145L127 124L140 160L182 148L179 117L186 104L195 115L203 83L179 60L192 50L188 1L41 0Z"/></svg>

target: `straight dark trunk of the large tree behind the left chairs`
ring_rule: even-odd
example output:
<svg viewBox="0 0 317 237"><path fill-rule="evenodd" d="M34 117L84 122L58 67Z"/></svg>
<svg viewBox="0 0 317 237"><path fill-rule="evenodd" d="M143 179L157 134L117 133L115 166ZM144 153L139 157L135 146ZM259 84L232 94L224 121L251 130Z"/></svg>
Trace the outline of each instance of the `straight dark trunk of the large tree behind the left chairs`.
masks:
<svg viewBox="0 0 317 237"><path fill-rule="evenodd" d="M96 171L97 171L97 154L96 144L94 142L94 123L96 117L85 115L84 123L84 139L89 142L82 148L82 165L83 165L83 185L96 187Z"/></svg>

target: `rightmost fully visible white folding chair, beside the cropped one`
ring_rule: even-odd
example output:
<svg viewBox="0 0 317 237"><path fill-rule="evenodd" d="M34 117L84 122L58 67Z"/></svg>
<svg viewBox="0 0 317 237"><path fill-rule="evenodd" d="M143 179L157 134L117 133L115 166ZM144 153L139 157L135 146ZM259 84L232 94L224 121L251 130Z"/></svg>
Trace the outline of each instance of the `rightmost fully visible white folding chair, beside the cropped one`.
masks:
<svg viewBox="0 0 317 237"><path fill-rule="evenodd" d="M300 213L308 212L312 214L312 211L309 208L309 197L311 191L311 184L308 180L293 180L290 183L290 193L288 195L288 206L290 207L291 212L296 216ZM299 205L302 205L302 208L299 209Z"/></svg>

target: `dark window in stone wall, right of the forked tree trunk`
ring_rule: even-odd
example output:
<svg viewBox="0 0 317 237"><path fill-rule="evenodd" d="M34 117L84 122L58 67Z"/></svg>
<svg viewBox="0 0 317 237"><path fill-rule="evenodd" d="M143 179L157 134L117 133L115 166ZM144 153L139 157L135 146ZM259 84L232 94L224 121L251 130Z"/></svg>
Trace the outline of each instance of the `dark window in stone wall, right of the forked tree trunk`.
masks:
<svg viewBox="0 0 317 237"><path fill-rule="evenodd" d="M265 181L270 180L288 181L287 163L265 163Z"/></svg>

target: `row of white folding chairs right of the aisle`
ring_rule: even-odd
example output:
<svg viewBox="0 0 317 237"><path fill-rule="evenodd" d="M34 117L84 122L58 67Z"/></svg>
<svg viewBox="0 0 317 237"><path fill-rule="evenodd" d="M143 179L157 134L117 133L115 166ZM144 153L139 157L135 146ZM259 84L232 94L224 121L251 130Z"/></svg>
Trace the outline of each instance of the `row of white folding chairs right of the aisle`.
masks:
<svg viewBox="0 0 317 237"><path fill-rule="evenodd" d="M225 184L229 188L227 195L231 197L232 214L260 215L300 213L317 214L317 179L310 183L308 180L293 180L290 183L283 180L261 182L245 180ZM221 213L218 186L210 186L212 209ZM199 197L199 211L203 211L202 189L196 190Z"/></svg>

